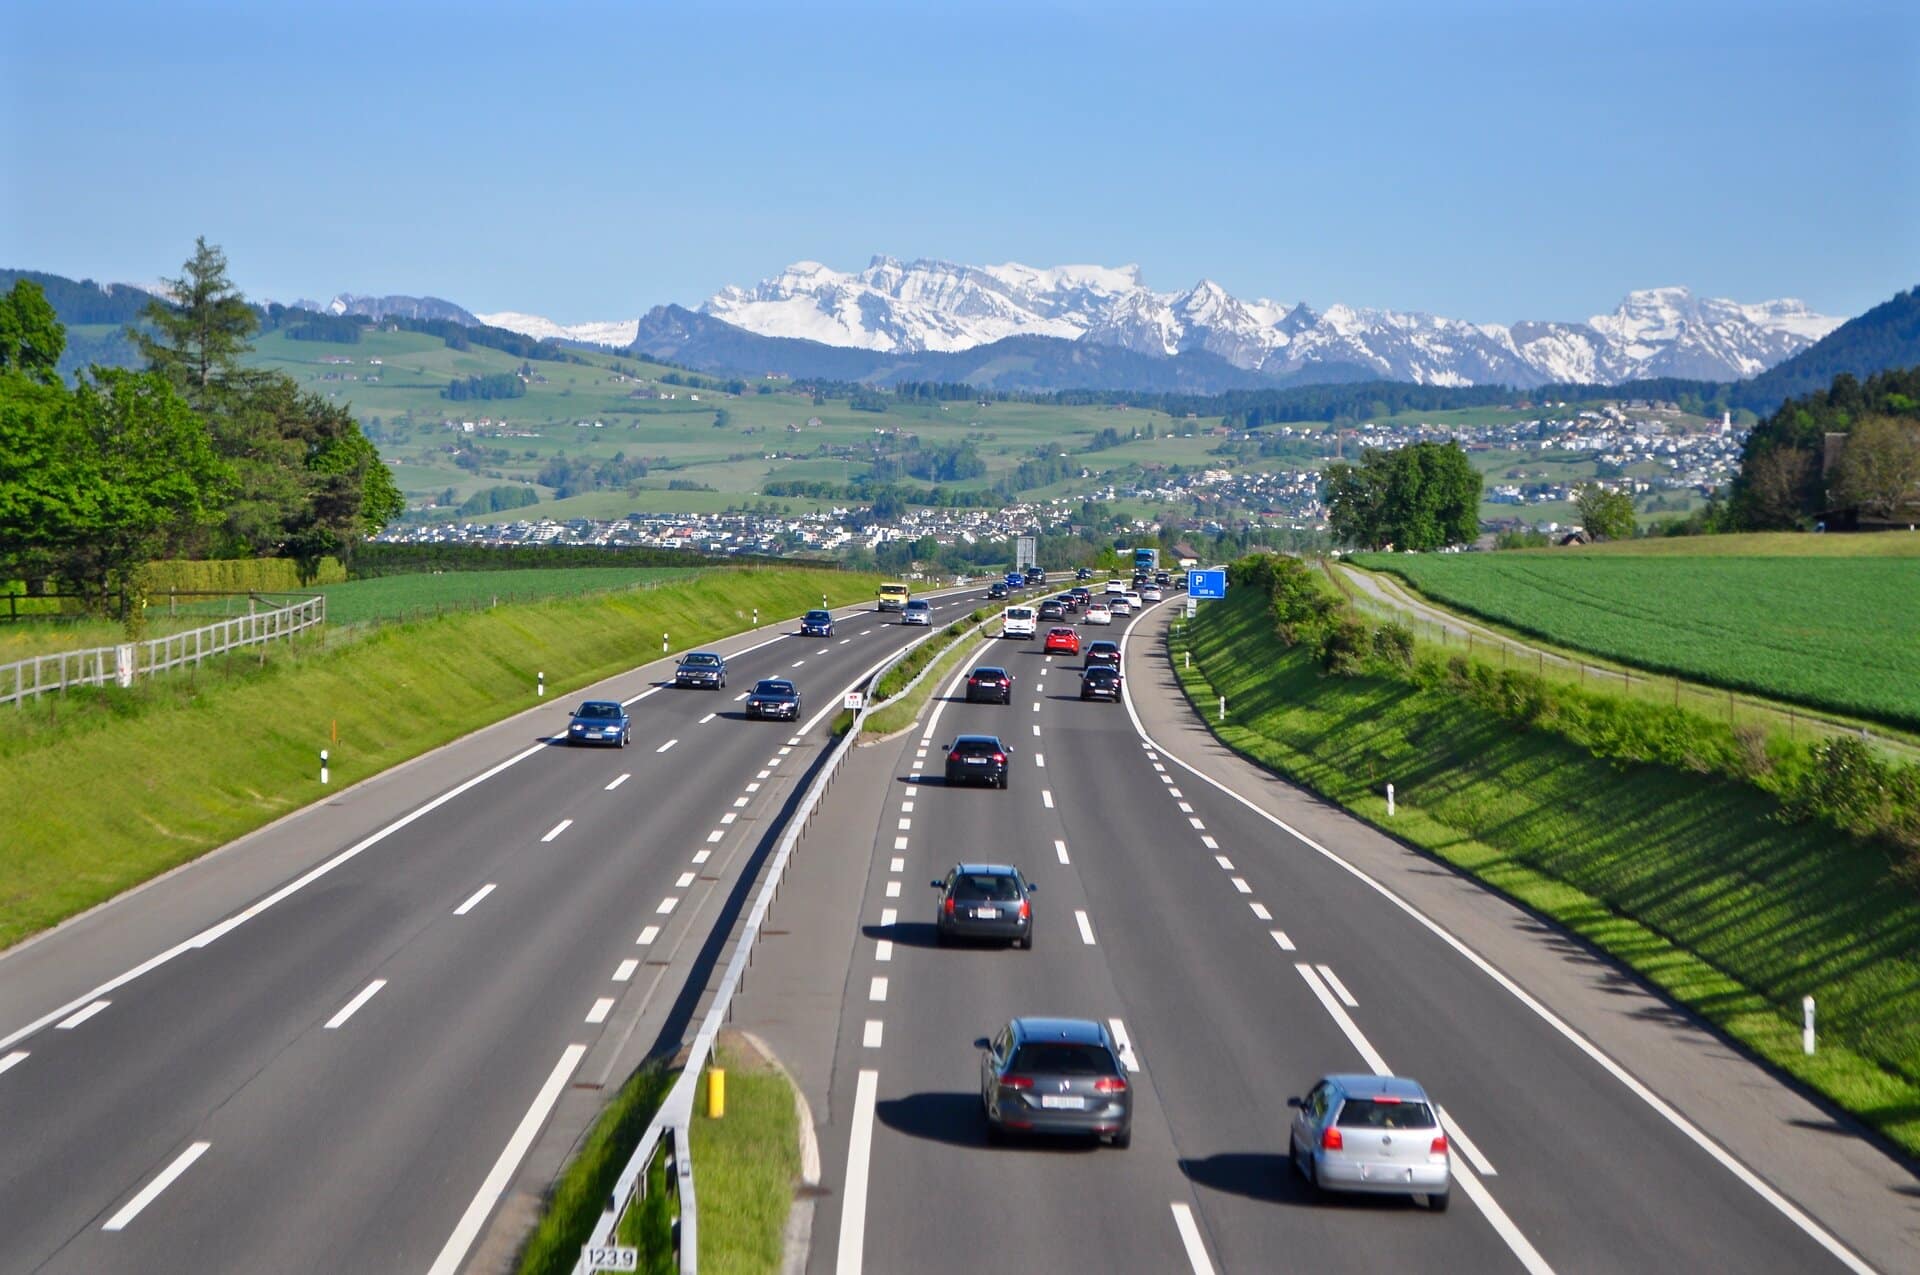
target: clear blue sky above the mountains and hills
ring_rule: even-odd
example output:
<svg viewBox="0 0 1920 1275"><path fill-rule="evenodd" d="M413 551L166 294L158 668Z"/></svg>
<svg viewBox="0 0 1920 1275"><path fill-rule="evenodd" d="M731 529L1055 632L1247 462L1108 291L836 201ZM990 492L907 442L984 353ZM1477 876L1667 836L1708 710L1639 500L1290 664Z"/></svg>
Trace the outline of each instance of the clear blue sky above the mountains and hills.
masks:
<svg viewBox="0 0 1920 1275"><path fill-rule="evenodd" d="M1509 323L1920 282L1920 6L38 4L0 265L559 321L797 259Z"/></svg>

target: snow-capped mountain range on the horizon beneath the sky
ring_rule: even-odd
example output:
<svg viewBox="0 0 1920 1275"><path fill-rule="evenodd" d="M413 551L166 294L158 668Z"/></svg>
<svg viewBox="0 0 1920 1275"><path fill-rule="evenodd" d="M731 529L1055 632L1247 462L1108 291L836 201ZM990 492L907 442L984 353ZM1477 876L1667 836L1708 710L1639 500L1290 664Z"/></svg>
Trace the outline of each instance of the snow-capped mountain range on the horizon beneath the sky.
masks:
<svg viewBox="0 0 1920 1275"><path fill-rule="evenodd" d="M1421 384L1609 384L1642 376L1738 380L1820 340L1841 319L1801 301L1630 292L1584 323L1467 323L1434 315L1269 300L1213 280L1154 292L1139 267L954 265L874 257L858 273L799 261L755 288L724 288L703 313L760 336L899 353L958 351L1008 336L1054 336L1292 376L1350 365ZM503 325L511 326L511 325Z"/></svg>

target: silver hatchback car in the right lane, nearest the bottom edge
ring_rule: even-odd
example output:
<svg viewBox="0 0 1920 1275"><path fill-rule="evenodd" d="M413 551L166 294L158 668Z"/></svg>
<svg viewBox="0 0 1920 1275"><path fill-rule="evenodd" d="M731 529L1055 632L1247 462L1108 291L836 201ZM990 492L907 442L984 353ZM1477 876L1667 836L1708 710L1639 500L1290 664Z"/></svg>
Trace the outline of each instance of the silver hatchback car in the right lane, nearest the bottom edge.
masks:
<svg viewBox="0 0 1920 1275"><path fill-rule="evenodd" d="M1371 1194L1423 1194L1444 1214L1452 1160L1440 1112L1404 1075L1323 1075L1288 1098L1294 1167L1309 1187Z"/></svg>

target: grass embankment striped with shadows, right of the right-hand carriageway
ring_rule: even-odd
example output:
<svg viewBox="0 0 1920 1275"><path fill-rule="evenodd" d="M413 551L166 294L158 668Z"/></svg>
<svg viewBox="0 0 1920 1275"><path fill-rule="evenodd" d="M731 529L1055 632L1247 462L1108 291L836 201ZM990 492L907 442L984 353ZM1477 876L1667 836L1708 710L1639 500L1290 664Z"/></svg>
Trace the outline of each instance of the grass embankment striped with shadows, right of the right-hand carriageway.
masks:
<svg viewBox="0 0 1920 1275"><path fill-rule="evenodd" d="M1920 899L1882 843L1751 783L1596 757L1446 686L1323 674L1263 603L1235 589L1175 638L1188 697L1233 707L1202 714L1225 743L1557 920L1920 1154Z"/></svg>

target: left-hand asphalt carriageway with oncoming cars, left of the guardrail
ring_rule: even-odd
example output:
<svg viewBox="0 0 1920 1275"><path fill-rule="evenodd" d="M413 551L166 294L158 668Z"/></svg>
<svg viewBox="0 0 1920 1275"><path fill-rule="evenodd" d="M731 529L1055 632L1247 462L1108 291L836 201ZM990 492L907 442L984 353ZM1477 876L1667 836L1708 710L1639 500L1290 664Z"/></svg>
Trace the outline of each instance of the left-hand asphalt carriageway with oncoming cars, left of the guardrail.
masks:
<svg viewBox="0 0 1920 1275"><path fill-rule="evenodd" d="M720 693L657 661L549 699L10 952L0 1269L497 1265L501 1200L678 1045L820 722L925 632L891 618L714 643ZM760 676L812 730L743 720ZM586 697L632 747L553 747Z"/></svg>

